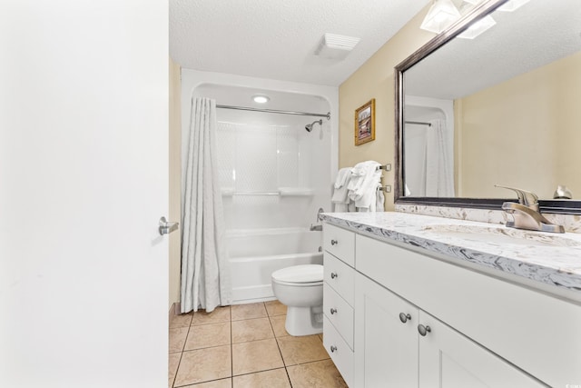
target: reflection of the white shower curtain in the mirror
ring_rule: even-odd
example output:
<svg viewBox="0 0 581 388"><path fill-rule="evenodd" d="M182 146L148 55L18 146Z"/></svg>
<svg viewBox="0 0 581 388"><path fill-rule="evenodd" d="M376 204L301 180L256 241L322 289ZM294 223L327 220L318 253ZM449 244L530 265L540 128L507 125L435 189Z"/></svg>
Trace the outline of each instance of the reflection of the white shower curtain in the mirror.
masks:
<svg viewBox="0 0 581 388"><path fill-rule="evenodd" d="M446 120L430 120L426 136L426 195L454 196L454 166Z"/></svg>

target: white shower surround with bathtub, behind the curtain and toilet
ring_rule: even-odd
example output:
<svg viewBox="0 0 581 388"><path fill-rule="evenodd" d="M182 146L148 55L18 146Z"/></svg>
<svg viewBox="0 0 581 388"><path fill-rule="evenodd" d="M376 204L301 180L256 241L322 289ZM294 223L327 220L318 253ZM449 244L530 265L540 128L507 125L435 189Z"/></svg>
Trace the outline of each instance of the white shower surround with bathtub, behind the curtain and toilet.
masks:
<svg viewBox="0 0 581 388"><path fill-rule="evenodd" d="M267 95L256 104L253 95ZM218 168L230 256L233 303L273 299L271 273L295 264L322 264L321 234L310 231L319 208L330 210L337 171L335 87L182 69L182 114L191 99L216 104L316 114L319 117L217 110ZM186 124L187 123L187 124ZM189 120L182 121L182 144ZM184 163L184 161L182 162Z"/></svg>

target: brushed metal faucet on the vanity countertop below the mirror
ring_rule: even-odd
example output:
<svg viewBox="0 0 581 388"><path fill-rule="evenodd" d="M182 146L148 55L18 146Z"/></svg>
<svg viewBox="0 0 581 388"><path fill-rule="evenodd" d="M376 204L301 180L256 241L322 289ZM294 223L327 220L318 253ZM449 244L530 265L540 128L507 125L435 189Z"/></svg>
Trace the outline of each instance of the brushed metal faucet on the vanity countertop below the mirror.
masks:
<svg viewBox="0 0 581 388"><path fill-rule="evenodd" d="M499 184L495 184L495 186L513 190L518 196L518 204L514 202L502 204L502 210L507 212L507 214L511 214L514 220L507 221L507 227L540 232L565 233L565 228L562 225L552 224L541 214L538 207L537 194Z"/></svg>

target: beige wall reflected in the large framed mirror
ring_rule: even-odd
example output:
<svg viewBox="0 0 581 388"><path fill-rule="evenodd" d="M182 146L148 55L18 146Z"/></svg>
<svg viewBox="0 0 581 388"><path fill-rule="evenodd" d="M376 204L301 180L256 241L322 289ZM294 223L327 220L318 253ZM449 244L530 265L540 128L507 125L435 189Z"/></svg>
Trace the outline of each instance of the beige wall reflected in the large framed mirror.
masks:
<svg viewBox="0 0 581 388"><path fill-rule="evenodd" d="M494 184L552 198L566 184L579 198L581 53L455 103L458 194L510 197Z"/></svg>

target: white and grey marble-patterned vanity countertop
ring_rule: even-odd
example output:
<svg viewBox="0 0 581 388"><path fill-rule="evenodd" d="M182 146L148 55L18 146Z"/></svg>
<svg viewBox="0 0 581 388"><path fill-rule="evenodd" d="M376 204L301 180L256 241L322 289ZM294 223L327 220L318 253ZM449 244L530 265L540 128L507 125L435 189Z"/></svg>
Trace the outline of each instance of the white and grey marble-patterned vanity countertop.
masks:
<svg viewBox="0 0 581 388"><path fill-rule="evenodd" d="M581 234L548 234L429 215L327 213L323 221L385 241L581 293Z"/></svg>

